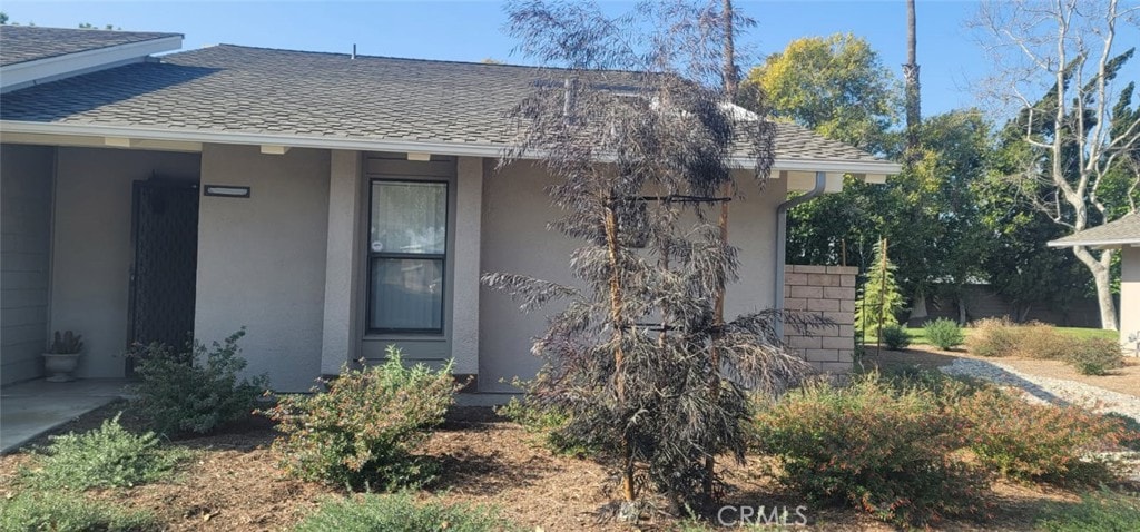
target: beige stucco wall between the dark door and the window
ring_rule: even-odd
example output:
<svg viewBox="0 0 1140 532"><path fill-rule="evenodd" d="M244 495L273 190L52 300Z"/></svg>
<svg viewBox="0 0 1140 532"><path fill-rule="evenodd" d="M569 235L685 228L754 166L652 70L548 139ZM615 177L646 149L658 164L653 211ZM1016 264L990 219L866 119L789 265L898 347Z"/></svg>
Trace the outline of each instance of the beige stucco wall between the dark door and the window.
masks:
<svg viewBox="0 0 1140 532"><path fill-rule="evenodd" d="M279 391L320 375L328 182L326 150L202 150L203 186L247 186L251 197L202 197L195 335L211 342L245 326L247 371L268 373Z"/></svg>

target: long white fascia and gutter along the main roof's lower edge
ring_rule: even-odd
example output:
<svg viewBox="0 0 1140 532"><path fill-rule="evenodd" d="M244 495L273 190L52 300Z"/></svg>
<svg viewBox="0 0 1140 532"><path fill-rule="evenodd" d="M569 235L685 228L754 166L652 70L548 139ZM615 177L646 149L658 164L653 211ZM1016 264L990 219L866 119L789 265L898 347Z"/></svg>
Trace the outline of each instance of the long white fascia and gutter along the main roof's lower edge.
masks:
<svg viewBox="0 0 1140 532"><path fill-rule="evenodd" d="M274 145L292 148L355 149L360 152L423 152L438 155L491 158L502 156L503 150L506 148L506 146L503 145L488 144L356 139L347 137L304 137L298 134L171 130L83 123L23 122L10 120L0 121L0 133L2 132L127 137L144 140L178 140L202 144L258 146ZM532 154L530 157L524 158L538 158L538 155ZM602 162L604 162L604 159L602 159ZM755 159L738 157L732 159L732 164L739 169L749 169L755 164ZM902 166L897 163L890 163L887 161L776 158L772 164L772 170L773 175L777 175L777 172L811 172L813 175L815 172L885 175L901 172Z"/></svg>

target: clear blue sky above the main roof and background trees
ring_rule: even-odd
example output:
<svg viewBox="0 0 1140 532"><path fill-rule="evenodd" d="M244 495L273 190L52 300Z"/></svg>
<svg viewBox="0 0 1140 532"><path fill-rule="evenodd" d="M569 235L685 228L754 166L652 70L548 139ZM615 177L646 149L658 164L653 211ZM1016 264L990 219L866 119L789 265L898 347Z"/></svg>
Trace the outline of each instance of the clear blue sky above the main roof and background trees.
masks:
<svg viewBox="0 0 1140 532"><path fill-rule="evenodd" d="M749 66L793 39L837 32L868 39L896 75L905 60L902 0L736 0L736 5L759 23L742 39L752 58L744 62ZM628 6L613 2L608 8ZM21 24L114 24L123 30L182 33L184 49L230 43L349 52L356 43L363 55L523 63L512 54L515 41L502 31L506 16L497 1L5 0L0 9ZM976 9L974 1L918 1L925 115L977 104L971 85L991 64L963 26Z"/></svg>

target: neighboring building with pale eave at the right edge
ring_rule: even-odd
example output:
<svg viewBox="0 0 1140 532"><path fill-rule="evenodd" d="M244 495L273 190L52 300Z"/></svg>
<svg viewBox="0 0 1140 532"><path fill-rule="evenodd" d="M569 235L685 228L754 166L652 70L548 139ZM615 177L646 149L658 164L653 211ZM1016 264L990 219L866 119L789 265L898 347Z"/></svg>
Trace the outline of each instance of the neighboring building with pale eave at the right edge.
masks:
<svg viewBox="0 0 1140 532"><path fill-rule="evenodd" d="M1121 251L1121 344L1140 355L1140 215L1129 214L1049 243L1050 247L1088 246Z"/></svg>

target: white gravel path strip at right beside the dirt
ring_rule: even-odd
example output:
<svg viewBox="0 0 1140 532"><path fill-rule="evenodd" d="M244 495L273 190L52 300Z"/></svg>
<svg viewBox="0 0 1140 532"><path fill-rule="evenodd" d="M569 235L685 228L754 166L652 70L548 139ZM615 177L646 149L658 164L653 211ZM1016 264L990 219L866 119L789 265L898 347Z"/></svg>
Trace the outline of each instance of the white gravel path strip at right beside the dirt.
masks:
<svg viewBox="0 0 1140 532"><path fill-rule="evenodd" d="M1075 404L1100 414L1116 412L1140 421L1140 398L1134 395L1075 380L1039 377L988 360L954 359L953 363L940 369L950 375L964 375L1002 385L1017 386L1024 390L1031 400L1054 404Z"/></svg>

